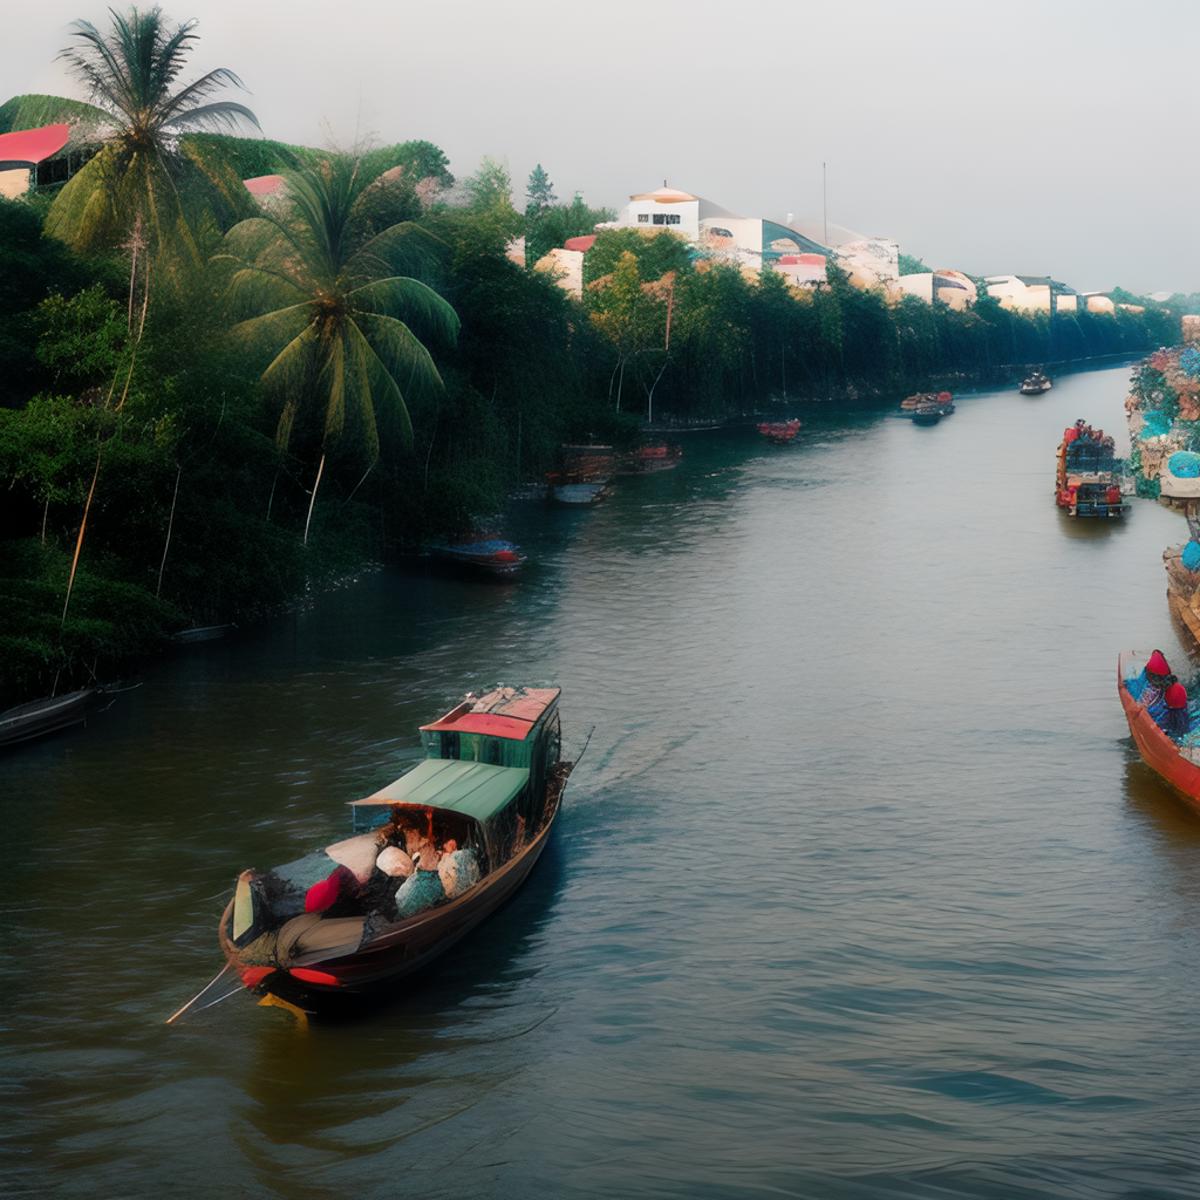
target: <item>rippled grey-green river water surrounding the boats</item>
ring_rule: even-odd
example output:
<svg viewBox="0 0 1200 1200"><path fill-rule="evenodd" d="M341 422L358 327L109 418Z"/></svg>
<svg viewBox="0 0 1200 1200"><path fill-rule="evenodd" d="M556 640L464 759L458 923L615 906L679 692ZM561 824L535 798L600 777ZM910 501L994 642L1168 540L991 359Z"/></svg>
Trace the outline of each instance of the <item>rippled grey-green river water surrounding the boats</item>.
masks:
<svg viewBox="0 0 1200 1200"><path fill-rule="evenodd" d="M691 436L517 505L517 583L368 576L10 755L0 1190L1200 1195L1200 818L1114 691L1122 647L1182 659L1183 522L1052 503L1127 374ZM520 896L361 1020L164 1027L235 872L497 680L595 726Z"/></svg>

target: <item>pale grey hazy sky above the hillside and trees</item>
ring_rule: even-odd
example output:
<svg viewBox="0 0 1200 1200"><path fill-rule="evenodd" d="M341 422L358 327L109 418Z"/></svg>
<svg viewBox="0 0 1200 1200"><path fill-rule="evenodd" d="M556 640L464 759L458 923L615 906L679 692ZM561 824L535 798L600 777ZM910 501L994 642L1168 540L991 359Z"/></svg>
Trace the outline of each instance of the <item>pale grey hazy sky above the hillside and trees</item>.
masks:
<svg viewBox="0 0 1200 1200"><path fill-rule="evenodd" d="M1200 0L167 0L269 137L428 138L560 197L661 185L829 218L934 266L1200 290ZM0 92L90 0L0 0ZM2 97L0 97L2 98Z"/></svg>

